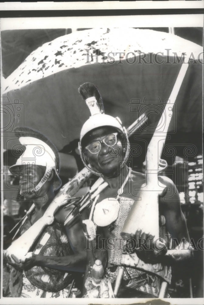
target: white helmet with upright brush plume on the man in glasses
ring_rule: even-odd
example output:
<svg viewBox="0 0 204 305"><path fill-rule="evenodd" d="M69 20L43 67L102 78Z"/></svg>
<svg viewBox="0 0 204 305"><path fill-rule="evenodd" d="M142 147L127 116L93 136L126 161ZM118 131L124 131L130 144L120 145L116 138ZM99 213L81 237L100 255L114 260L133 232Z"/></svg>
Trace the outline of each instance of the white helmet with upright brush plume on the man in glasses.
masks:
<svg viewBox="0 0 204 305"><path fill-rule="evenodd" d="M100 96L99 91L95 87L95 85L91 83L84 83L79 87L79 93L82 95L83 99L85 99L87 106L90 109L91 116L89 119L83 124L81 133L80 133L80 141L79 141L79 151L81 159L84 163L84 166L87 167L93 174L96 174L97 176L101 176L102 174L93 170L92 167L89 166L86 157L82 150L82 139L83 137L93 129L104 127L104 126L110 126L119 131L119 133L124 136L125 138L125 156L124 161L127 159L129 155L129 149L130 144L128 140L128 134L126 131L126 128L122 126L121 120L116 117L112 117L108 114L104 114L104 108L102 99ZM124 145L124 144L123 144ZM122 163L122 164L123 164Z"/></svg>

